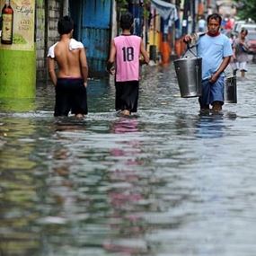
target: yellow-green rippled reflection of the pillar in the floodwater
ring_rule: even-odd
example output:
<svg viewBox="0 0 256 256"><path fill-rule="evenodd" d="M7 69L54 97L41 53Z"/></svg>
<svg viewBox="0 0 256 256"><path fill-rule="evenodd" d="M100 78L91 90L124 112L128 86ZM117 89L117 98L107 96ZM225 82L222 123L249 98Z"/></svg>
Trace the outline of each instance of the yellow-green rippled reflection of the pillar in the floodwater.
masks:
<svg viewBox="0 0 256 256"><path fill-rule="evenodd" d="M1 122L0 255L27 255L40 245L39 230L32 227L40 213L31 211L38 199L31 159L35 127L28 119Z"/></svg>

